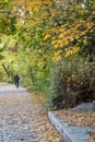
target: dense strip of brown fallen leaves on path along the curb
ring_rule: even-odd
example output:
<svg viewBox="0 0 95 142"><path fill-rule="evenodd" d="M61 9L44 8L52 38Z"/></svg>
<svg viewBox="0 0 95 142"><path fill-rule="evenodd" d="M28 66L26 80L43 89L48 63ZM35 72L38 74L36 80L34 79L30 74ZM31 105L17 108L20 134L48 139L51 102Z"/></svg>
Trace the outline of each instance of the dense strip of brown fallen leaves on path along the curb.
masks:
<svg viewBox="0 0 95 142"><path fill-rule="evenodd" d="M56 131L56 129L48 120L44 105L40 103L40 99L43 98L39 99L39 96L32 94L31 99L34 103L32 119L35 125L33 126L33 130L35 133L37 133L37 135L34 135L35 140L37 137L37 140L35 142L63 142L60 134Z"/></svg>

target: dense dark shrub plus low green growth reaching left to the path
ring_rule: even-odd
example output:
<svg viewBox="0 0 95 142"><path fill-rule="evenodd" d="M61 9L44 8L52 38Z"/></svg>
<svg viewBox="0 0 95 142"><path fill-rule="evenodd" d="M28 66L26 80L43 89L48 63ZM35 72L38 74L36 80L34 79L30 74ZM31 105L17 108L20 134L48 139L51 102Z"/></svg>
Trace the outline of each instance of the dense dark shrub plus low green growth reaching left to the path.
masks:
<svg viewBox="0 0 95 142"><path fill-rule="evenodd" d="M47 81L47 80L46 80ZM31 86L46 99L47 109L74 107L78 104L95 99L95 62L80 57L70 57L56 62L44 85ZM39 95L40 97L40 95Z"/></svg>

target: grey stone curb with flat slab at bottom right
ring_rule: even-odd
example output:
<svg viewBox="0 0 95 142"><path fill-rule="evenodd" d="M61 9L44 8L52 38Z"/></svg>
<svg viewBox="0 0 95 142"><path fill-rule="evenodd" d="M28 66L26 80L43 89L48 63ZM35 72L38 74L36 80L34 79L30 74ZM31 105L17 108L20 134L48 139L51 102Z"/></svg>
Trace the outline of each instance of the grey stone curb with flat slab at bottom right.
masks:
<svg viewBox="0 0 95 142"><path fill-rule="evenodd" d="M86 139L90 138L88 132L94 131L88 127L76 127L72 123L63 122L55 117L52 111L48 113L48 118L62 137L63 142L86 142Z"/></svg>

